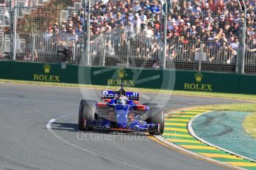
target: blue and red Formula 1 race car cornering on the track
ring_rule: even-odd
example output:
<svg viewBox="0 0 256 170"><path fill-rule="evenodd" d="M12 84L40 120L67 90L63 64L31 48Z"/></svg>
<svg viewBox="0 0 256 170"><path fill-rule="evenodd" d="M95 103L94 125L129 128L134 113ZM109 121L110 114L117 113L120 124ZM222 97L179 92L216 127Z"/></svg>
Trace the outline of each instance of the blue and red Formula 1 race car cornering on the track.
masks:
<svg viewBox="0 0 256 170"><path fill-rule="evenodd" d="M140 104L138 92L103 90L97 102L82 100L79 106L79 130L106 129L120 132L148 132L161 135L164 113L156 103Z"/></svg>

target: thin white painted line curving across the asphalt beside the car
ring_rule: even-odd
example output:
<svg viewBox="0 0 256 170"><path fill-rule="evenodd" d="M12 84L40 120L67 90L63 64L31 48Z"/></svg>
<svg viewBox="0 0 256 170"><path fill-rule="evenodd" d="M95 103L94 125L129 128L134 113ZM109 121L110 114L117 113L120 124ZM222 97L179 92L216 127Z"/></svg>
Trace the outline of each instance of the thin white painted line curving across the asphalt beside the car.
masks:
<svg viewBox="0 0 256 170"><path fill-rule="evenodd" d="M76 146L75 144L70 143L68 140L65 140L64 138L60 137L59 135L56 135L56 133L53 132L52 125L53 125L53 123L54 123L56 120L58 120L58 119L60 119L60 118L65 118L65 117L68 116L68 115L75 115L75 114L77 114L77 113L69 113L69 114L66 114L66 115L59 116L58 118L55 118L55 119L50 119L50 120L48 121L47 125L46 125L46 128L49 130L49 132L50 132L53 136L55 136L55 137L58 138L59 140L62 140L62 142L67 143L68 145L73 146L73 147L76 148L76 149L82 150L83 152L88 152L88 153L90 153L90 154L94 154L94 155L97 156L97 157L102 157L102 158L104 158L104 159L106 159L106 160L111 160L111 161L113 161L113 162L115 162L115 163L119 163L119 164L122 164L122 165L125 165L125 166L130 166L130 167L132 167L132 168L134 168L134 169L148 170L148 169L144 169L144 168L142 168L142 167L140 167L140 166L134 166L134 165L131 165L131 163L125 163L125 162L122 161L122 160L115 160L114 158L106 157L106 156L104 156L104 155L102 155L102 154L97 154L96 152L92 152L92 151L89 151L88 149L84 149L84 148L82 148L82 147L80 147L80 146Z"/></svg>

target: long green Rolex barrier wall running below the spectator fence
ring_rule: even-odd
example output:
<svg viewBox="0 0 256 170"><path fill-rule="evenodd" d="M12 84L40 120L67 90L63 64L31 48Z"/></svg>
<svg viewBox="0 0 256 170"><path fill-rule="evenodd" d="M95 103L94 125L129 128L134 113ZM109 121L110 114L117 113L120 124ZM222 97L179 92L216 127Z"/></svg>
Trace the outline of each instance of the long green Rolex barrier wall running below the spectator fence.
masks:
<svg viewBox="0 0 256 170"><path fill-rule="evenodd" d="M18 61L0 61L0 71L1 79L22 81L256 94L254 75Z"/></svg>

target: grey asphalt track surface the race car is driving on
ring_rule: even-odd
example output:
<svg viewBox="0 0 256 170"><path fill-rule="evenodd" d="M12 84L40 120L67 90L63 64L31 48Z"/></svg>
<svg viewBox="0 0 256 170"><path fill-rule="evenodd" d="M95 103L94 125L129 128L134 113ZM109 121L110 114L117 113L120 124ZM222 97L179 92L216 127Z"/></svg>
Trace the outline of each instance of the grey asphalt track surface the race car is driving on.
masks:
<svg viewBox="0 0 256 170"><path fill-rule="evenodd" d="M99 100L99 94L92 92L91 99ZM168 100L167 109L240 102L181 95L161 98ZM77 132L81 99L78 88L0 84L0 169L226 169L143 135Z"/></svg>

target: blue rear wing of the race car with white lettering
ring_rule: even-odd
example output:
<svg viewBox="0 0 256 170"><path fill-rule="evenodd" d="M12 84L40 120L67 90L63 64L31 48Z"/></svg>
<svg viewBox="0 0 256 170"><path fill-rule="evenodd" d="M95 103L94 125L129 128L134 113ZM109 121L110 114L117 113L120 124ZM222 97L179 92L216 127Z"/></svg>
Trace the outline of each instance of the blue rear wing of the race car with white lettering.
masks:
<svg viewBox="0 0 256 170"><path fill-rule="evenodd" d="M114 99L118 94L119 94L118 91L103 90L101 99ZM125 92L125 95L131 101L139 101L140 99L139 92Z"/></svg>

